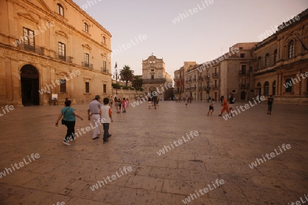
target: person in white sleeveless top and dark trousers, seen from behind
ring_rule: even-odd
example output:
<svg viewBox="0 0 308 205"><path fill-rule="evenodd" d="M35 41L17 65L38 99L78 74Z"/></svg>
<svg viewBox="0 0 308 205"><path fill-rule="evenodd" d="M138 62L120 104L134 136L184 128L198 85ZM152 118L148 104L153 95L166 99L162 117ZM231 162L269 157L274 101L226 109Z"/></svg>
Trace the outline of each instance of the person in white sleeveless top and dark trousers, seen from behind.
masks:
<svg viewBox="0 0 308 205"><path fill-rule="evenodd" d="M112 120L111 107L108 105L109 99L104 98L103 103L104 105L101 106L101 123L103 124L103 129L104 129L103 143L107 143L108 138L112 136L109 135L109 125L110 122L114 122L114 120Z"/></svg>

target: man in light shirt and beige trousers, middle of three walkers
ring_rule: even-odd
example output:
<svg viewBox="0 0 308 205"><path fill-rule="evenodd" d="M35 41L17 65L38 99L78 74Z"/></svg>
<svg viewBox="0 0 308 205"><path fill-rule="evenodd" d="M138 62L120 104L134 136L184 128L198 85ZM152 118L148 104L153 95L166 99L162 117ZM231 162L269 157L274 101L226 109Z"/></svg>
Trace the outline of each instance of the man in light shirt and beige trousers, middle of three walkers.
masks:
<svg viewBox="0 0 308 205"><path fill-rule="evenodd" d="M94 100L90 102L88 107L88 120L90 121L90 117L92 116L92 120L94 123L92 139L99 139L99 135L101 135L101 131L99 131L99 111L101 111L101 96L96 95Z"/></svg>

